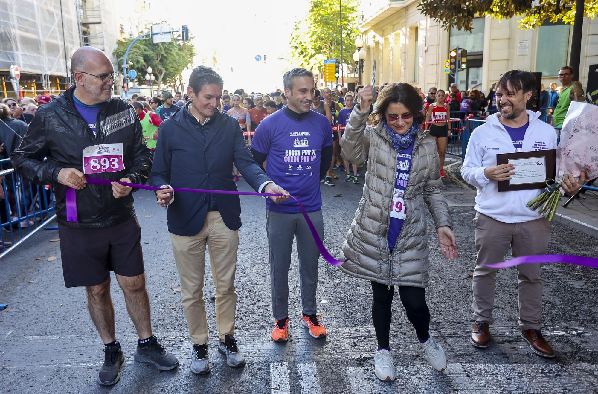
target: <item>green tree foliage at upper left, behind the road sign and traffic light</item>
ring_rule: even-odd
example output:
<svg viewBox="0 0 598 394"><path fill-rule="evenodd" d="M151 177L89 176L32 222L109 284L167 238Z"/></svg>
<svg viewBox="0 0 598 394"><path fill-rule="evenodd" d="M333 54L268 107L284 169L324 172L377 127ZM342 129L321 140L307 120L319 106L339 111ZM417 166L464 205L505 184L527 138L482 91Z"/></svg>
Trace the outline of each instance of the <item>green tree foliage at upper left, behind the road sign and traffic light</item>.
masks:
<svg viewBox="0 0 598 394"><path fill-rule="evenodd" d="M148 26L141 34L149 33ZM191 40L190 35L190 40ZM117 58L117 65L122 66L124 53L133 38L117 42L114 55ZM137 71L137 80L144 81L146 70L151 67L155 75L154 84L160 87L160 84L178 88L182 80L182 72L193 65L193 57L196 56L195 48L191 41L182 41L181 33L172 33L172 41L160 42L154 44L151 36L139 39L135 42L127 56L129 66L127 70Z"/></svg>

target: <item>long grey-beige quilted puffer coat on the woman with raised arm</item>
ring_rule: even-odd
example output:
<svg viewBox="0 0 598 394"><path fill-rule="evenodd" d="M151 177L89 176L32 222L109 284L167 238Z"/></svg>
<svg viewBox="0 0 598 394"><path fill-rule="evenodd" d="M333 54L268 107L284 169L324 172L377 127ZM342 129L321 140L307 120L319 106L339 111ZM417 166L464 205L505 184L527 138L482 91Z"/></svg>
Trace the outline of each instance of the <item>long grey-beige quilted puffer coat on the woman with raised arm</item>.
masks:
<svg viewBox="0 0 598 394"><path fill-rule="evenodd" d="M443 183L436 143L428 132L415 136L410 176L404 200L407 218L392 255L388 248L390 206L396 176L396 149L382 123L366 126L368 111L356 105L341 140L343 158L367 161L364 194L355 211L339 259L349 261L341 271L389 286L428 286L428 230L423 203L428 204L436 228L453 221L441 191Z"/></svg>

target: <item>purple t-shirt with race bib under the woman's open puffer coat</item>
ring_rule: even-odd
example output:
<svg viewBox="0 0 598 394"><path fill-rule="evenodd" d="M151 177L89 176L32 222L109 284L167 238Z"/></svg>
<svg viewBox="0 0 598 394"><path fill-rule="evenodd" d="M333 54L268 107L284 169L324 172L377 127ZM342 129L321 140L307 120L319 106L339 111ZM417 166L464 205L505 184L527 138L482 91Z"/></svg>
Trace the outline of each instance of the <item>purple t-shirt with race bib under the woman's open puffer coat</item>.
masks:
<svg viewBox="0 0 598 394"><path fill-rule="evenodd" d="M409 181L411 169L411 154L413 153L413 142L403 152L396 152L396 176L395 188L392 193L392 206L390 207L390 225L388 228L388 248L392 251L395 248L396 239L401 234L401 228L407 217L407 209L403 194Z"/></svg>

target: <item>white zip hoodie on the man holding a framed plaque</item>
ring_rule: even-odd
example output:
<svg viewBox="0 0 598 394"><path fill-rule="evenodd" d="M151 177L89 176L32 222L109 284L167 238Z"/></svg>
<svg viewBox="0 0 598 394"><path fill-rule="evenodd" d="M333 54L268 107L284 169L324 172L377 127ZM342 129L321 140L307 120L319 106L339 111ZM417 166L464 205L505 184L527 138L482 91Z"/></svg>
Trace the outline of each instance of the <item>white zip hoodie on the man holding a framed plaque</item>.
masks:
<svg viewBox="0 0 598 394"><path fill-rule="evenodd" d="M527 111L529 126L523 137L521 152L555 149L557 135L550 124L538 119L540 112ZM501 191L498 182L484 175L487 167L496 165L499 153L514 153L509 133L498 120L498 113L486 118L487 122L471 133L463 160L461 175L465 182L475 186L475 210L504 223L520 223L540 218L538 212L526 207L541 190Z"/></svg>

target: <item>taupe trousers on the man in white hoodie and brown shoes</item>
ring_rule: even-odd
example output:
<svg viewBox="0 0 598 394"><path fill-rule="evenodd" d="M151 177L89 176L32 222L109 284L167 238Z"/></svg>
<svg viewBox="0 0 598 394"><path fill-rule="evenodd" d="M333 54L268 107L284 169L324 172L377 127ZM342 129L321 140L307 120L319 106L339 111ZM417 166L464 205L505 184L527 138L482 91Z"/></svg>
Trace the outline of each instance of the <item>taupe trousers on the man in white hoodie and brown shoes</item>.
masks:
<svg viewBox="0 0 598 394"><path fill-rule="evenodd" d="M501 262L512 249L514 257L542 255L548 249L550 222L540 218L529 222L504 223L480 212L475 214L475 261L472 289L475 320L494 323L496 272L483 262ZM517 294L519 300L519 326L521 329L540 329L542 321L542 264L517 265Z"/></svg>

